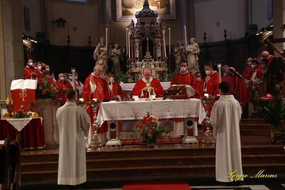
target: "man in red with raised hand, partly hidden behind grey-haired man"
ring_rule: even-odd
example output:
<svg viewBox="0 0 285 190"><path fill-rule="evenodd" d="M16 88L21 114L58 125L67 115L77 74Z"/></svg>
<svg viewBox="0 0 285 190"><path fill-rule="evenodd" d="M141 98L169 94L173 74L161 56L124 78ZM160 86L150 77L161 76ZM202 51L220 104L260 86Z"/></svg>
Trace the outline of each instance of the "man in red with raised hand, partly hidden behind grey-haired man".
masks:
<svg viewBox="0 0 285 190"><path fill-rule="evenodd" d="M110 98L111 100L122 102L124 101L125 92L123 91L121 85L114 80L114 78L115 76L113 71L107 72L106 80L109 85ZM122 120L119 120L119 131L123 130L122 125Z"/></svg>

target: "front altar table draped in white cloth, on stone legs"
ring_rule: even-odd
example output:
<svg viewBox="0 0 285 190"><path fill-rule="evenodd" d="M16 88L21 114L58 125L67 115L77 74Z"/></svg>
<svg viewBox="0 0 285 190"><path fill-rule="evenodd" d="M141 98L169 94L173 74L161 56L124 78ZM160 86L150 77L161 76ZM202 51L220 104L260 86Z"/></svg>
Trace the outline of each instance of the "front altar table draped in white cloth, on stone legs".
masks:
<svg viewBox="0 0 285 190"><path fill-rule="evenodd" d="M130 102L102 102L100 104L97 124L101 125L108 121L108 130L110 133L118 134L118 120L139 120L147 116L147 112L154 117L161 119L184 118L185 139L183 145L198 145L195 134L198 135L195 118L199 117L199 123L206 118L205 110L200 99L186 100L154 100L154 101L130 101ZM188 135L189 129L193 134ZM121 146L118 135L113 138L109 136L106 147ZM112 146L113 145L113 146Z"/></svg>

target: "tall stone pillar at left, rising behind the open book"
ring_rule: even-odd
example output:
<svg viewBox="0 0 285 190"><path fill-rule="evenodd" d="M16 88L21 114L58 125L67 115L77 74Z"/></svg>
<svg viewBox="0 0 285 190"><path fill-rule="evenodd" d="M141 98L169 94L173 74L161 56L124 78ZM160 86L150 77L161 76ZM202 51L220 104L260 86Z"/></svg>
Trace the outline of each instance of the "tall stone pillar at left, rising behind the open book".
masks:
<svg viewBox="0 0 285 190"><path fill-rule="evenodd" d="M1 0L6 74L6 95L11 95L11 79L24 75L23 31L21 3ZM22 78L24 78L22 76ZM18 78L19 79L19 78ZM2 91L2 88L1 88Z"/></svg>

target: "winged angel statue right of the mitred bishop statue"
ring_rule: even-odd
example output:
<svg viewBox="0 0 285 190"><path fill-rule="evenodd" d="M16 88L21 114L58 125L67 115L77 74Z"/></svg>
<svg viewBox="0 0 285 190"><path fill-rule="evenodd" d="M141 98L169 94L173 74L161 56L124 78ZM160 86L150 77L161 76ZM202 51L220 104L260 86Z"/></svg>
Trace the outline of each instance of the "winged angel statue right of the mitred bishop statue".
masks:
<svg viewBox="0 0 285 190"><path fill-rule="evenodd" d="M115 73L115 76L119 73L121 73L121 66L120 66L120 59L124 60L124 54L125 54L125 47L121 47L119 49L119 44L115 44L115 49L113 49L112 46L109 46L109 57L111 58L113 62L113 72Z"/></svg>

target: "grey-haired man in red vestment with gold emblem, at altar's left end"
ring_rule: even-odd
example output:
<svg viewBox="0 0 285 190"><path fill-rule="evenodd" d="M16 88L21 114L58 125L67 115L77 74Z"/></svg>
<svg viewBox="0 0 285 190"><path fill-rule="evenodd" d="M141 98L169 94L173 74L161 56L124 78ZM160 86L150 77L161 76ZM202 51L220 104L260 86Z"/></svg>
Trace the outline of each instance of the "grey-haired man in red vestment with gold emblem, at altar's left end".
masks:
<svg viewBox="0 0 285 190"><path fill-rule="evenodd" d="M94 98L100 101L103 101L104 99L110 100L110 92L109 92L108 84L106 80L100 77L102 70L103 70L102 66L97 64L94 66L94 71L86 78L84 82L84 86L82 88L84 100L89 101ZM94 112L93 112L91 105L86 105L85 109L91 118L91 124L93 124L94 123ZM99 107L97 108L96 115L98 114L98 111L99 111ZM99 129L97 130L97 133L106 133L107 131L108 131L108 123L104 122L101 125L101 127L99 127Z"/></svg>

